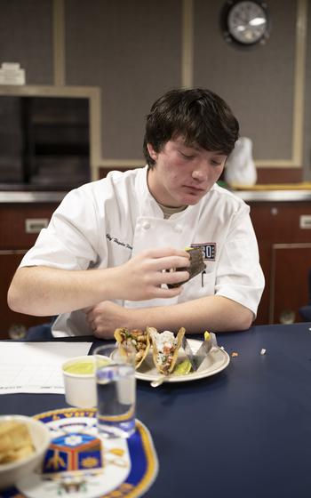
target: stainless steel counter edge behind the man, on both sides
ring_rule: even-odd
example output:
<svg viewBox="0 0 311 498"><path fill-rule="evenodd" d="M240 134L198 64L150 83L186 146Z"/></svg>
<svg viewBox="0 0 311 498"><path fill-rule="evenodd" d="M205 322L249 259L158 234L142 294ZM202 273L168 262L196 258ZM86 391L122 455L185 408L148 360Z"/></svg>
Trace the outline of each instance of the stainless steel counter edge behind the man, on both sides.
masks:
<svg viewBox="0 0 311 498"><path fill-rule="evenodd" d="M311 190L235 190L245 202L311 201ZM60 203L66 192L0 191L0 203Z"/></svg>

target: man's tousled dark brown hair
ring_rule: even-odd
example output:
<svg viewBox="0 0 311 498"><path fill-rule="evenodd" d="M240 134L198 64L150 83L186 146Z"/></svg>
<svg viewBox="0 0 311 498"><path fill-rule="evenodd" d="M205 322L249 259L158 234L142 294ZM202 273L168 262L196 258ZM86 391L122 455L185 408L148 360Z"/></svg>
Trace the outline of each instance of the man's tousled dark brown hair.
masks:
<svg viewBox="0 0 311 498"><path fill-rule="evenodd" d="M225 100L211 90L174 89L156 100L147 116L143 152L149 167L155 161L147 144L160 152L167 141L179 136L188 146L228 155L238 139L239 124Z"/></svg>

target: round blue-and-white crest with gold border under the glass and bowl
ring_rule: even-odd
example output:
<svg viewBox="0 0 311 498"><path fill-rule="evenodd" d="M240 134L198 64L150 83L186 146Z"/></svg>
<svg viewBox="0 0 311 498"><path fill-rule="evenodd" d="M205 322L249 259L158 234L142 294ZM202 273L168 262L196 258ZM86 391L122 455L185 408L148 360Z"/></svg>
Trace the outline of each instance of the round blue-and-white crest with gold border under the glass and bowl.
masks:
<svg viewBox="0 0 311 498"><path fill-rule="evenodd" d="M94 409L65 408L36 418L48 425L52 436L43 468L20 480L8 497L136 498L155 480L156 452L140 421L125 440L101 438Z"/></svg>

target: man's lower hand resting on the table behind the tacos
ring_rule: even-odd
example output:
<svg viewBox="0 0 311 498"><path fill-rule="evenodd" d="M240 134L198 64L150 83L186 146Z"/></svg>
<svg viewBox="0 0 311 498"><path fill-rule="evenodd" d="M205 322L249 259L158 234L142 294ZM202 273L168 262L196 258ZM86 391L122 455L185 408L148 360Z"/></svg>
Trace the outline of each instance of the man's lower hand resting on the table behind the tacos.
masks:
<svg viewBox="0 0 311 498"><path fill-rule="evenodd" d="M118 327L135 328L134 325L129 326L131 315L132 309L123 308L111 301L102 301L86 311L86 320L95 337L111 339Z"/></svg>

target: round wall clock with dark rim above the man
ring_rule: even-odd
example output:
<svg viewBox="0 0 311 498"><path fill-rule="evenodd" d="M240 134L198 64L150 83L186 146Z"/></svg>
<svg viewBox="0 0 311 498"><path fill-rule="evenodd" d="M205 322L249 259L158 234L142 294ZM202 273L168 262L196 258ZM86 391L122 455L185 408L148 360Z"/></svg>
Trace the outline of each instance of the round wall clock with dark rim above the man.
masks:
<svg viewBox="0 0 311 498"><path fill-rule="evenodd" d="M221 28L229 44L265 44L270 32L267 4L256 0L228 0L221 12Z"/></svg>

